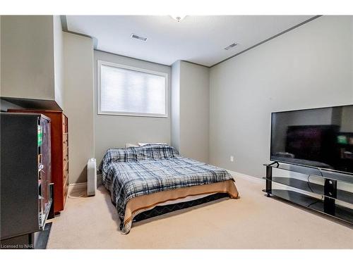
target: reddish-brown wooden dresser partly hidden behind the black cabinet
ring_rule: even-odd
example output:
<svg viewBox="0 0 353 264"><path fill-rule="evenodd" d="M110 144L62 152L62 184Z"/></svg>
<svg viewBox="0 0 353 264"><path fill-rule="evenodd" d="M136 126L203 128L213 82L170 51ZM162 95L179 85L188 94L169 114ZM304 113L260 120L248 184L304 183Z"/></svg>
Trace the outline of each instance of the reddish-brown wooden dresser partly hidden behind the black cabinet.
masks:
<svg viewBox="0 0 353 264"><path fill-rule="evenodd" d="M68 118L62 111L8 109L11 113L41 113L52 120L52 182L54 212L64 210L68 193Z"/></svg>

